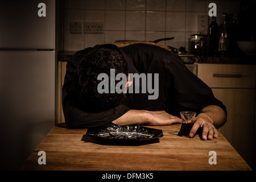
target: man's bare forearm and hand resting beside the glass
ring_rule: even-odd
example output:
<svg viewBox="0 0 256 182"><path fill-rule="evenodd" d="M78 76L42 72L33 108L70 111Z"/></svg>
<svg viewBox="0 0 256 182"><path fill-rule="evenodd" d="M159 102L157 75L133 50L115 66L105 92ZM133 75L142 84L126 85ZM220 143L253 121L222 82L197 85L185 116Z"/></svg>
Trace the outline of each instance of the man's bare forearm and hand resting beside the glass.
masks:
<svg viewBox="0 0 256 182"><path fill-rule="evenodd" d="M226 114L221 107L215 105L206 106L197 115L189 136L193 137L201 127L203 128L202 138L204 140L218 138L217 128L224 125L225 119Z"/></svg>

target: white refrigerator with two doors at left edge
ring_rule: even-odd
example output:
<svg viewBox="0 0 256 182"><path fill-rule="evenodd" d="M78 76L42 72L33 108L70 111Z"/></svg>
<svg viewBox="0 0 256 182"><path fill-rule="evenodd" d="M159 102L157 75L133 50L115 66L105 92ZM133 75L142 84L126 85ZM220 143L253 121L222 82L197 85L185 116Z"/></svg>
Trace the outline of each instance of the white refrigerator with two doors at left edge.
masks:
<svg viewBox="0 0 256 182"><path fill-rule="evenodd" d="M55 125L55 1L0 0L0 170L20 170Z"/></svg>

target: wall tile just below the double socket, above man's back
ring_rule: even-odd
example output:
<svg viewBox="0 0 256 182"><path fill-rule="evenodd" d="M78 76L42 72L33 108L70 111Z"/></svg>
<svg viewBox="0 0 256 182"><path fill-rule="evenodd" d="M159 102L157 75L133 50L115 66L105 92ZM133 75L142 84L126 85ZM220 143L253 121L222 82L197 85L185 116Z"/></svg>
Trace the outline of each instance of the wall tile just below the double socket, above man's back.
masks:
<svg viewBox="0 0 256 182"><path fill-rule="evenodd" d="M97 44L104 44L104 34L85 34L84 47L94 47Z"/></svg>

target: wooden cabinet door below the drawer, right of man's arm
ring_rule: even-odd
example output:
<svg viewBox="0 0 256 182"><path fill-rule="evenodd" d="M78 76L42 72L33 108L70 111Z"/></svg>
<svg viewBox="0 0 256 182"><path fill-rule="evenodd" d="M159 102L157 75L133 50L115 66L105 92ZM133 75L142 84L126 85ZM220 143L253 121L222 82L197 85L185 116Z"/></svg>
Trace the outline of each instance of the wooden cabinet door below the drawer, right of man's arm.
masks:
<svg viewBox="0 0 256 182"><path fill-rule="evenodd" d="M226 105L227 121L219 131L237 152L253 165L255 89L212 89Z"/></svg>

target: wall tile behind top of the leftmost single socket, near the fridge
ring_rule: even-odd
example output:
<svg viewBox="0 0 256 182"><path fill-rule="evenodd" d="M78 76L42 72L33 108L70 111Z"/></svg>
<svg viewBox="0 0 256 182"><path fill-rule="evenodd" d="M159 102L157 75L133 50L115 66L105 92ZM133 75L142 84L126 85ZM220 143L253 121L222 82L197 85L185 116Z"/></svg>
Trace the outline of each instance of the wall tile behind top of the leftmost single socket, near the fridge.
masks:
<svg viewBox="0 0 256 182"><path fill-rule="evenodd" d="M65 10L64 11L64 29L70 29L70 22L84 22L84 10Z"/></svg>

